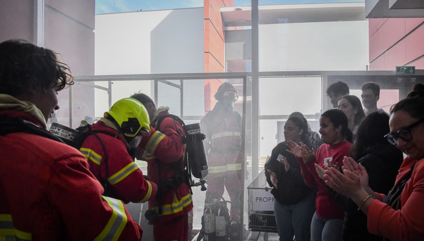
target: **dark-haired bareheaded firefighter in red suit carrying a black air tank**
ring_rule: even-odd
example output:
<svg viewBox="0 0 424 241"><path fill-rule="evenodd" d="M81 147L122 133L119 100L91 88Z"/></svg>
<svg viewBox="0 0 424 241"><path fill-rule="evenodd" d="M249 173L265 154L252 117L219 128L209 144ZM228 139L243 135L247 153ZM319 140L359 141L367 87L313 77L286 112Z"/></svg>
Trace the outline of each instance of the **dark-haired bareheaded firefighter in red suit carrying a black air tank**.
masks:
<svg viewBox="0 0 424 241"><path fill-rule="evenodd" d="M188 212L193 209L193 201L183 172L185 145L180 133L185 136L184 129L172 117L164 117L156 126L159 117L168 114L169 108L156 109L153 100L143 93L131 97L146 106L152 119L151 135L141 140L137 159L147 161L148 177L158 184L158 193L149 200L146 212L146 218L153 224L154 240L187 241Z"/></svg>

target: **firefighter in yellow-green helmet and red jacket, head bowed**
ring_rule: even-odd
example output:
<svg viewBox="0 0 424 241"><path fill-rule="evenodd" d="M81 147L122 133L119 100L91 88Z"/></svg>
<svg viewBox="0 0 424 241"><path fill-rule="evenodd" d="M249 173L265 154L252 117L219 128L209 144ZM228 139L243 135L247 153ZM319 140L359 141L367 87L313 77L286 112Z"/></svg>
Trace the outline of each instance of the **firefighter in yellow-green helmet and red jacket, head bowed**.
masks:
<svg viewBox="0 0 424 241"><path fill-rule="evenodd" d="M133 98L120 99L91 130L94 134L84 140L79 151L105 187L105 195L125 203L146 202L153 197L156 184L146 180L134 162L135 148L143 135L150 134L144 106Z"/></svg>

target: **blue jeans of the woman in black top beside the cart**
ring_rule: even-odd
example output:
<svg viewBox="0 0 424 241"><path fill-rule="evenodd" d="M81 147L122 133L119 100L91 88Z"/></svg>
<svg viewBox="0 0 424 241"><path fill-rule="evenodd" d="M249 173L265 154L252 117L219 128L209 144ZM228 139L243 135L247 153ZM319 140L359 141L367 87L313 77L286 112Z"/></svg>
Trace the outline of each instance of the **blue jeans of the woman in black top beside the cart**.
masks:
<svg viewBox="0 0 424 241"><path fill-rule="evenodd" d="M275 201L274 213L280 241L292 241L293 234L296 241L309 241L311 219L314 212L315 192L309 193L296 204L284 205Z"/></svg>

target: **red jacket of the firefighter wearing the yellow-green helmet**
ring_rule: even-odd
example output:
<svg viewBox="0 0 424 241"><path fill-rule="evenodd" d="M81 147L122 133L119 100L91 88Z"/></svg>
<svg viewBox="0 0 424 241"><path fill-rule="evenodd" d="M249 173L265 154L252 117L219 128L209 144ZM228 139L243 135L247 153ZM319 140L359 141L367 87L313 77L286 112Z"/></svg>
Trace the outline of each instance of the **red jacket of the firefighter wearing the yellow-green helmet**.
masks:
<svg viewBox="0 0 424 241"><path fill-rule="evenodd" d="M87 158L90 171L100 183L105 183L107 155L108 187L105 195L128 202L146 202L156 193L155 186L143 178L143 172L135 164L127 151L125 140L114 129L106 126L107 119L101 118L92 126L93 131L106 131L108 134L90 135L79 151ZM111 136L112 135L112 136Z"/></svg>

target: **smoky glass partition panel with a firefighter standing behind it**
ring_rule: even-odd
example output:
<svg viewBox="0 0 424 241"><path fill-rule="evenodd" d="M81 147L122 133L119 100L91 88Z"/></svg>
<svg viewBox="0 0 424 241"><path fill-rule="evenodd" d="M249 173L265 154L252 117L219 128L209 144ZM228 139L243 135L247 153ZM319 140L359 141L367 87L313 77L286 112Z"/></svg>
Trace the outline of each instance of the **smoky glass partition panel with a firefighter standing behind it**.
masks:
<svg viewBox="0 0 424 241"><path fill-rule="evenodd" d="M246 143L251 143L249 140L251 128L246 126L245 114L246 102L251 99L246 94L248 92L246 91L246 79L246 76L241 78L185 78L184 76L157 78L156 76L150 79L142 76L137 80L137 77L132 76L131 80L128 80L125 76L122 78L108 76L103 81L96 79L93 81L95 84L89 84L88 79L80 82L77 79L76 82L91 86L95 90L93 92L96 110L93 113L96 114L91 116L94 121L97 121L109 109L109 99L111 100L110 104L113 104L133 93L142 92L155 101L156 107L168 106L169 113L182 118L186 125L202 122L201 130L206 135L204 145L209 165L209 173L205 177L208 189L202 191L201 186L192 187L193 227L201 229L205 201L212 202L215 198L231 202L227 205L229 215L234 220L245 222L243 213L246 212L246 205L244 202L237 204L237 200L246 200L242 197L245 187L249 183L247 168L251 166L248 161L250 160L248 157L250 148L245 146ZM232 98L231 93L233 94ZM79 94L81 93L73 93L74 98L77 98ZM86 115L90 116L90 113ZM251 121L249 120L248 123ZM194 161L190 159L190 156L189 160ZM224 162L221 163L220 161L223 160ZM149 164L146 161L136 160L136 163L144 175L157 175L147 172ZM225 170L221 170L223 167ZM197 178L193 180L198 181ZM226 186L222 186L223 189L221 189L223 183ZM144 218L148 205L129 203L127 207L133 218L140 220L146 235L148 235L151 226L147 225L147 220ZM238 213L237 210L244 211Z"/></svg>

